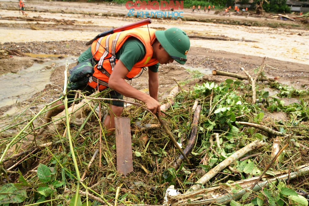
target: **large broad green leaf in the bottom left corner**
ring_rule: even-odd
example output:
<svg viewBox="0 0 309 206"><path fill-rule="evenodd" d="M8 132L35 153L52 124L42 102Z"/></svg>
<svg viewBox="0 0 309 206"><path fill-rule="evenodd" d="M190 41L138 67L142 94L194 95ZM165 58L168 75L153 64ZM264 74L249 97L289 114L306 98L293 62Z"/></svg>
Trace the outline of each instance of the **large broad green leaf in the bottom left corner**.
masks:
<svg viewBox="0 0 309 206"><path fill-rule="evenodd" d="M0 187L0 204L21 203L27 197L26 190L19 190L13 183L7 183Z"/></svg>

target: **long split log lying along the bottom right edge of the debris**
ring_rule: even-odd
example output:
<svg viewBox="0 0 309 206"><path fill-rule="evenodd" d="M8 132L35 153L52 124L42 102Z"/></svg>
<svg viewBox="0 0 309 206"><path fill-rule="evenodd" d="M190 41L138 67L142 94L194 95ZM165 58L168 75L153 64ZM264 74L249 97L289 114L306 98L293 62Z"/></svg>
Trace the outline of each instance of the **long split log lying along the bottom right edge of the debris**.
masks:
<svg viewBox="0 0 309 206"><path fill-rule="evenodd" d="M284 174L286 173L286 174ZM295 172L290 173L289 170L285 171L279 171L274 173L276 176L283 174L281 176L274 177L272 179L266 180L264 182L259 183L253 188L253 191L259 191L262 189L262 187L268 187L269 183L277 184L278 180L286 181L287 179L294 179L298 176L303 176L306 174L309 174L309 165L303 165L295 169ZM269 178L270 175L264 175L263 178ZM235 186L236 184L240 185L243 190L231 195L230 192L228 192L231 188L226 185L220 185L216 187L210 187L201 189L198 191L193 191L191 193L176 195L176 196L167 196L167 199L171 206L185 206L185 205L202 205L202 204L210 204L210 203L216 203L216 204L229 204L231 200L239 200L242 195L244 195L246 192L250 191L250 187L252 187L252 184L254 181L256 181L258 177L252 177L249 179L243 179L240 181L236 181L233 183L230 183L231 186ZM218 197L213 197L213 195L216 195L216 191L219 189L224 189L227 191L227 195L221 195ZM190 200L190 202L188 202Z"/></svg>

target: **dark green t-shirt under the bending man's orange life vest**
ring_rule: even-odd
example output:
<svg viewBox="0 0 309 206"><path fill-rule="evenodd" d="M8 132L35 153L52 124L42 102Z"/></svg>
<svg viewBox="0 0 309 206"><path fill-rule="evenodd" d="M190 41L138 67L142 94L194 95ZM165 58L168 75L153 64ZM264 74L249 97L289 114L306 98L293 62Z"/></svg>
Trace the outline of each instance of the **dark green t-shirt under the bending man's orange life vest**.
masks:
<svg viewBox="0 0 309 206"><path fill-rule="evenodd" d="M135 37L128 38L116 53L116 59L121 60L125 67L131 71L134 64L141 61L146 54L144 44ZM81 63L87 59L92 58L91 47L83 52L77 59ZM149 66L148 69L152 72L158 72L159 63Z"/></svg>

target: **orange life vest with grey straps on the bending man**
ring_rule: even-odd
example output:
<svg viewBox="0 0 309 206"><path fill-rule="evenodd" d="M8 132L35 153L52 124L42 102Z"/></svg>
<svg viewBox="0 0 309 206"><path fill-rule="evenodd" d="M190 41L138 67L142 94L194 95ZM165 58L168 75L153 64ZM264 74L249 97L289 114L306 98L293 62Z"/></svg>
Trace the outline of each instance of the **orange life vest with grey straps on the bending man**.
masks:
<svg viewBox="0 0 309 206"><path fill-rule="evenodd" d="M129 37L135 37L140 40L146 49L145 56L141 61L133 65L125 79L135 77L140 73L143 67L152 66L158 63L158 60L152 58L153 50L151 44L155 42L155 29L135 28L123 32L116 32L108 36L95 40L91 45L91 53L97 64L94 66L94 73L89 78L88 85L97 88L99 82L99 90L108 87L108 79L118 61L116 53ZM132 51L134 52L134 51Z"/></svg>

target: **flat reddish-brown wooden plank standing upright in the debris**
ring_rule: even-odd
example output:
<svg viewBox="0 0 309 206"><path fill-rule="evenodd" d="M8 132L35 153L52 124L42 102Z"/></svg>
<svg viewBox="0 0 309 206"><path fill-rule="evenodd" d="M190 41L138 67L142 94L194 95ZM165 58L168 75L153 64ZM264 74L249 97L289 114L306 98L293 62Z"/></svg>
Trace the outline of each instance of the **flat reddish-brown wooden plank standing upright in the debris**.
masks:
<svg viewBox="0 0 309 206"><path fill-rule="evenodd" d="M125 176L133 171L130 118L115 117L117 171Z"/></svg>

